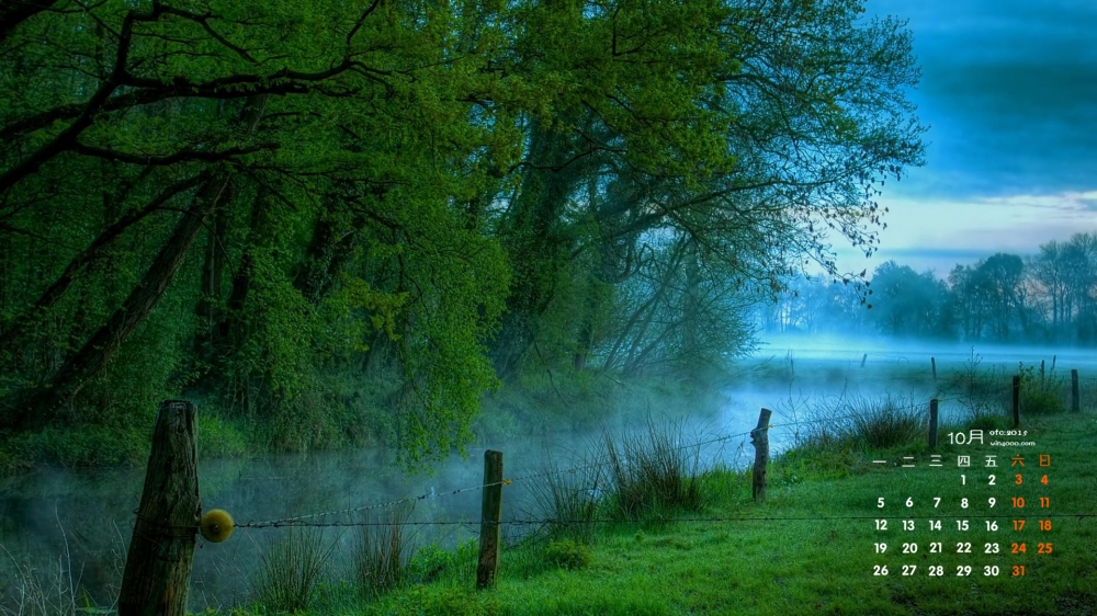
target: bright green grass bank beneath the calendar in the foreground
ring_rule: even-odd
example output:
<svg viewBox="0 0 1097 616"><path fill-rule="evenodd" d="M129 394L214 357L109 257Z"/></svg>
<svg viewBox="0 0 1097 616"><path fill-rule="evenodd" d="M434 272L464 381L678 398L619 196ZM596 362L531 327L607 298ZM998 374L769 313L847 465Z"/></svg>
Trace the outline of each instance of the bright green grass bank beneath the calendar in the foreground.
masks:
<svg viewBox="0 0 1097 616"><path fill-rule="evenodd" d="M545 541L525 541L504 550L498 586L486 592L472 590L475 551L468 549L444 563L454 574L371 603L329 603L316 614L1093 614L1097 521L1066 514L1095 511L1097 421L1061 414L1027 419L1024 427L1037 446L995 447L988 441L1006 437L992 436L982 445L949 445L942 430L943 468L928 466L924 445L907 444L851 452L852 470L827 478L807 464L814 454L800 452L773 463L761 504L750 500L747 475L719 472L706 482L711 506L689 515L725 521L600 524L584 547L557 541L546 549ZM1008 468L1018 452L1027 458L1021 486ZM957 468L961 453L972 456L972 468ZM1038 453L1052 454L1050 469L1039 468ZM983 468L988 454L999 465L995 486L987 484ZM902 455L915 455L917 466L898 466ZM880 458L887 464L871 463ZM1048 486L1039 482L1044 471ZM1048 532L1039 529L1040 495L1051 499L1048 511L1062 515L1050 517ZM1011 509L1013 497L1026 499L1024 516ZM941 499L937 506L935 498ZM1018 517L1026 520L1021 532L1011 528ZM877 520L887 521L886 531L875 529ZM904 520L914 521L913 532L903 531ZM930 520L940 520L942 528L930 531ZM960 531L958 520L966 520L969 529ZM987 531L988 520L997 522L997 532ZM943 554L930 554L931 541L940 541ZM1009 554L1021 541L1028 551ZM877 543L887 544L884 554L875 554ZM904 543L916 543L918 551L903 555ZM957 554L958 543L970 543L972 554ZM1038 543L1051 543L1052 554L1037 554ZM998 551L985 554L986 544ZM878 564L887 567L886 577L873 575ZM916 574L902 575L903 564L917 566ZM945 575L929 577L930 564L941 566ZM957 575L965 564L971 574ZM1026 566L1024 579L1011 577L1014 564ZM998 575L984 575L985 566L997 566Z"/></svg>

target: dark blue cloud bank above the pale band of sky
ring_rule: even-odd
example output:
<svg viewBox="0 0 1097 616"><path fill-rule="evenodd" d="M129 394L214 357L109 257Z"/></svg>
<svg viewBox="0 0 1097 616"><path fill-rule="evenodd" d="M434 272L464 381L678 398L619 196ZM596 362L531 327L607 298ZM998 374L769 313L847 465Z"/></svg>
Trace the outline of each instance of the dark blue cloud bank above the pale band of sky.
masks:
<svg viewBox="0 0 1097 616"><path fill-rule="evenodd" d="M1093 189L1097 169L1097 2L871 0L908 18L923 67L911 92L927 166L905 195L1055 194Z"/></svg>

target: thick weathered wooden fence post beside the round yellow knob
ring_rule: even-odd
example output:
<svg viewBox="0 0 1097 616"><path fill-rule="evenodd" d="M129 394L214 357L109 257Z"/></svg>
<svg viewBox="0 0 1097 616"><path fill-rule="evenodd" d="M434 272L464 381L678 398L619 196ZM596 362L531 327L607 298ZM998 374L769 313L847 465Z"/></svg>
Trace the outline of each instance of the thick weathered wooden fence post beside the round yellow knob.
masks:
<svg viewBox="0 0 1097 616"><path fill-rule="evenodd" d="M145 489L129 540L120 616L185 616L202 502L194 404L165 400L152 426Z"/></svg>

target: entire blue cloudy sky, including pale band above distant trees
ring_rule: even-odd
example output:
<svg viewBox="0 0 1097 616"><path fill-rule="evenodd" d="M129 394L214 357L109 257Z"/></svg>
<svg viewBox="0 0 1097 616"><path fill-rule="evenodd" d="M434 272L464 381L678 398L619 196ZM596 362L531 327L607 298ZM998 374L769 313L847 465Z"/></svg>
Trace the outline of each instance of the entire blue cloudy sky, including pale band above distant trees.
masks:
<svg viewBox="0 0 1097 616"><path fill-rule="evenodd" d="M887 182L871 258L835 241L839 270L887 260L946 276L995 252L1033 254L1097 231L1097 1L868 0L908 20L929 130L926 164Z"/></svg>

